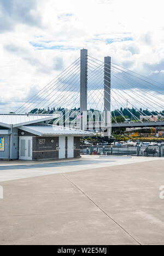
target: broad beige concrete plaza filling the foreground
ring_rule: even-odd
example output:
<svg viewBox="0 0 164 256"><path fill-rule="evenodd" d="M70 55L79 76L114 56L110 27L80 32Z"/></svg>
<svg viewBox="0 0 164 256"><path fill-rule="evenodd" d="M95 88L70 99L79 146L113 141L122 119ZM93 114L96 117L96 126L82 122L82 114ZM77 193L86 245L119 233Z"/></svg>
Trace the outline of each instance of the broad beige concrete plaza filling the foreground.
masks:
<svg viewBox="0 0 164 256"><path fill-rule="evenodd" d="M73 160L49 175L37 166L38 177L24 179L35 168L21 164L0 182L0 245L164 245L164 161L137 159Z"/></svg>

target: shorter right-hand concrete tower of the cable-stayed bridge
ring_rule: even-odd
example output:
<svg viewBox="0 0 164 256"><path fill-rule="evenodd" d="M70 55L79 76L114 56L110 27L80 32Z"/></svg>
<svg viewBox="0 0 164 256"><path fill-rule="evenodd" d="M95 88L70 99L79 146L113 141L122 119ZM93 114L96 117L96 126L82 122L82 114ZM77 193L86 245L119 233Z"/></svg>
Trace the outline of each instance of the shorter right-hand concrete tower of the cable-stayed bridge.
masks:
<svg viewBox="0 0 164 256"><path fill-rule="evenodd" d="M104 121L106 132L104 137L110 138L112 133L111 112L110 112L110 90L111 90L111 57L104 59Z"/></svg>

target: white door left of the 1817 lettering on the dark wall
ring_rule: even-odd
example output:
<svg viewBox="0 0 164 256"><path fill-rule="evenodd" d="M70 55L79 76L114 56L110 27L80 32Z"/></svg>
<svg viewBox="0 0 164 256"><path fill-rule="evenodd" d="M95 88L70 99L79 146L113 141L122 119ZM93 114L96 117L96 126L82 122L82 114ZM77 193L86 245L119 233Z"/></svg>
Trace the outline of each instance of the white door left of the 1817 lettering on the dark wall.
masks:
<svg viewBox="0 0 164 256"><path fill-rule="evenodd" d="M19 137L19 159L32 160L32 137Z"/></svg>

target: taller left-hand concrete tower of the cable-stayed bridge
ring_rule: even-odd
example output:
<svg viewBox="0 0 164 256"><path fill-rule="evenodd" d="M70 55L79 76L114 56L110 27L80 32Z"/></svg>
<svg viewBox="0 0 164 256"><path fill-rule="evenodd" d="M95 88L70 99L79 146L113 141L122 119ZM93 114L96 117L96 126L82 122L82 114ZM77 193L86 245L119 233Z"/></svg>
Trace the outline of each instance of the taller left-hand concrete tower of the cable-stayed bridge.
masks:
<svg viewBox="0 0 164 256"><path fill-rule="evenodd" d="M81 50L80 63L80 113L81 130L87 129L87 50Z"/></svg>

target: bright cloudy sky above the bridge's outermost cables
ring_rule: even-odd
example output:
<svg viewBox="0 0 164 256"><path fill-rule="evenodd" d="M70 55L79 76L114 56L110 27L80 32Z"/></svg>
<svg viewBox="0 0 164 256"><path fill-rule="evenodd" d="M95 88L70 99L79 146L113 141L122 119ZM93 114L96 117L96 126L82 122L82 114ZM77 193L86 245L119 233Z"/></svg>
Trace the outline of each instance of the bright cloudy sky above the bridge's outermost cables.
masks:
<svg viewBox="0 0 164 256"><path fill-rule="evenodd" d="M163 0L0 0L0 112L15 110L79 50L161 83Z"/></svg>

